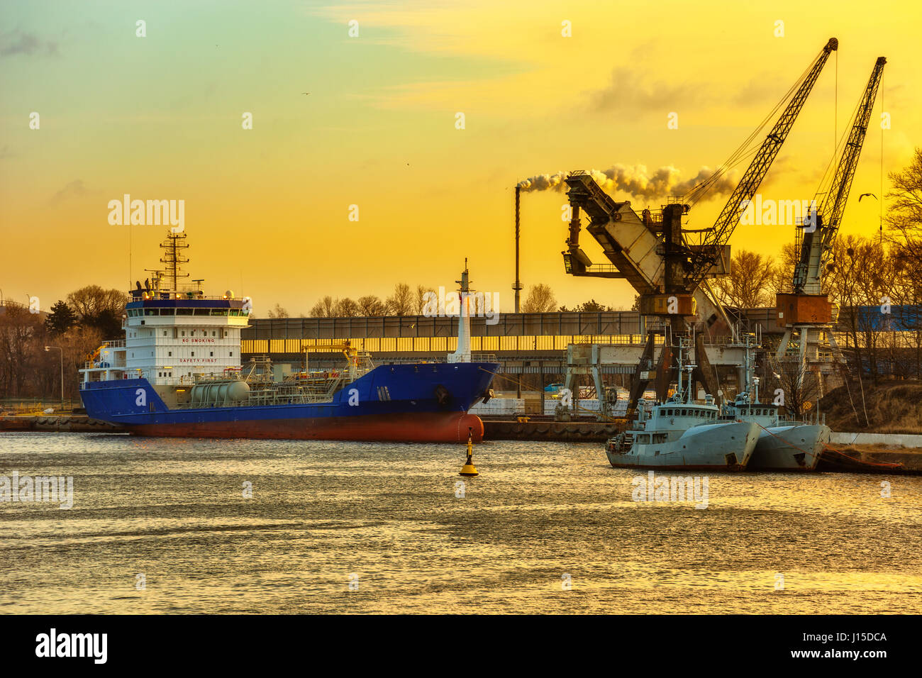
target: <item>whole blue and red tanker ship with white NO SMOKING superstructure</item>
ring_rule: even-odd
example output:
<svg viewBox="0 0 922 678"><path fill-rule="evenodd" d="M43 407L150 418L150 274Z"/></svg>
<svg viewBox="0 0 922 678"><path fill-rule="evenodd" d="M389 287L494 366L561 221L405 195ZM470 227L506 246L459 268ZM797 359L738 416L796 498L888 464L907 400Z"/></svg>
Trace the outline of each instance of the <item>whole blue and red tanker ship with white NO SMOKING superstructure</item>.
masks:
<svg viewBox="0 0 922 678"><path fill-rule="evenodd" d="M129 433L203 438L276 438L466 443L483 438L469 413L491 398L497 363L471 360L467 266L457 351L446 362L379 364L349 342L341 370L278 378L267 358L241 364L241 330L252 303L232 291L206 296L202 280L181 286L185 233L160 246L164 270L126 296L124 339L104 342L80 370L87 414Z"/></svg>

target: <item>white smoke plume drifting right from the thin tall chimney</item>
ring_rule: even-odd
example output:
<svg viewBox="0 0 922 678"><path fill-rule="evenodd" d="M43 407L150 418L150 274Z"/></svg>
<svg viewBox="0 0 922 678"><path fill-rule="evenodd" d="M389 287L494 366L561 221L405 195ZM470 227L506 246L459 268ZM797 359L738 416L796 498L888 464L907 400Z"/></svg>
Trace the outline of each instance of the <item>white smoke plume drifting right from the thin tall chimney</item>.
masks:
<svg viewBox="0 0 922 678"><path fill-rule="evenodd" d="M680 181L680 170L668 165L648 172L645 165L612 165L608 170L589 170L588 173L607 193L625 193L634 197L656 198L684 196L696 185L713 175L715 170L703 166L693 177ZM523 191L565 191L564 179L569 172L538 174L519 182ZM724 172L707 190L707 196L728 196L737 185L737 171Z"/></svg>

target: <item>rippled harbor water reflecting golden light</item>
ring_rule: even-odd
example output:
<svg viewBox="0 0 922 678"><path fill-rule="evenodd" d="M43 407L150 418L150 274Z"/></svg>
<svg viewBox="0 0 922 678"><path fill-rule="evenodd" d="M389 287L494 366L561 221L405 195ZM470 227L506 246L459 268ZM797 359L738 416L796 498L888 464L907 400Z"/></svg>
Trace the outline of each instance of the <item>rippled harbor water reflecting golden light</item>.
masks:
<svg viewBox="0 0 922 678"><path fill-rule="evenodd" d="M691 471L696 508L599 443L464 458L0 434L0 480L73 479L0 503L0 613L922 613L922 477Z"/></svg>

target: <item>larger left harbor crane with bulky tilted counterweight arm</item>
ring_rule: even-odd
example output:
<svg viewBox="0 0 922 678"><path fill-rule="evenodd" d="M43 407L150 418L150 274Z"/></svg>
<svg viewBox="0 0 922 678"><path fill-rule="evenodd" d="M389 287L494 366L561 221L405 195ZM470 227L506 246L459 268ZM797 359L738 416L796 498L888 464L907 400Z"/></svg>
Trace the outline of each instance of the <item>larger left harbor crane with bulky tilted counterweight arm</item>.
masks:
<svg viewBox="0 0 922 678"><path fill-rule="evenodd" d="M622 278L628 280L639 294L640 312L644 316L658 316L669 321L678 333L688 331L687 318L693 326L707 330L721 319L729 326L722 307L707 293L707 278L726 276L730 266L729 238L743 211L749 205L778 151L784 144L798 113L803 108L810 91L820 77L829 55L838 49L838 41L831 38L823 46L798 81L789 89L772 113L762 122L740 149L731 156L712 177L691 190L693 200L702 196L715 180L734 163L748 154L752 140L774 117L781 104L788 101L772 129L755 152L752 161L737 184L727 204L713 226L697 231L683 231L682 217L691 205L670 200L658 213L644 209L638 215L629 201L617 202L597 184L592 175L571 172L565 179L569 186L567 197L573 210L570 221L567 249L562 252L564 269L574 276ZM684 196L683 196L684 197ZM580 210L589 217L586 231L595 237L610 264L594 265L579 244ZM692 242L696 241L696 242ZM694 318L697 317L697 322ZM653 363L655 331L648 332L643 357L637 365L632 382L628 416L636 408L637 400L654 379L650 369ZM713 369L703 349L703 334L695 339L694 379L705 391L716 394L717 385ZM656 393L666 398L671 382L672 351L666 341L656 366Z"/></svg>

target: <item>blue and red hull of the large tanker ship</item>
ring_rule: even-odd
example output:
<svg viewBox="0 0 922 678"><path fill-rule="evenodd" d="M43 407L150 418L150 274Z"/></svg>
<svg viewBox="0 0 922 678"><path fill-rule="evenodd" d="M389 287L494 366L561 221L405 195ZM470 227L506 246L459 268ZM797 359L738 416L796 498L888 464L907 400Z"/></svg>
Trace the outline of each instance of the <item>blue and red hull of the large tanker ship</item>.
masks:
<svg viewBox="0 0 922 678"><path fill-rule="evenodd" d="M323 403L170 409L143 378L88 382L80 396L90 417L141 435L464 443L483 437L483 422L467 410L498 368L379 365Z"/></svg>

